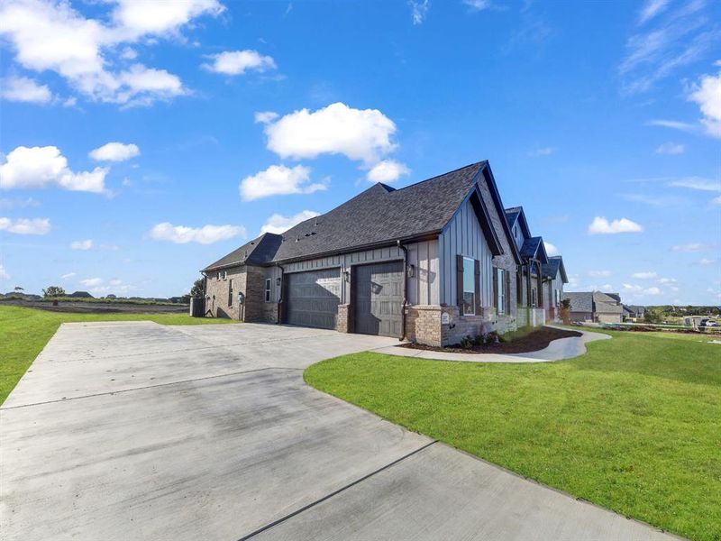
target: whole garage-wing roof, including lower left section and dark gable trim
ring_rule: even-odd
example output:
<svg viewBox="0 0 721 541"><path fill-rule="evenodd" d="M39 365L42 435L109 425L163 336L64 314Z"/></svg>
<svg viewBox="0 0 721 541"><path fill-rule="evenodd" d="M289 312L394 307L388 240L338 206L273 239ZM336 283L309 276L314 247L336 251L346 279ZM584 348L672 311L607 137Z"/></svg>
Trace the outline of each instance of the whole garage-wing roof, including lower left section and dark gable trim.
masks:
<svg viewBox="0 0 721 541"><path fill-rule="evenodd" d="M375 184L341 206L301 222L281 235L266 234L244 244L204 271L247 262L262 264L321 257L439 234L469 197L481 225L488 222L484 233L491 252L501 254L503 248L489 224L488 208L478 188L474 192L481 178L488 182L494 205L502 215L503 206L493 175L488 161L483 160L406 188ZM503 226L510 236L507 224ZM516 245L511 244L514 257L520 262Z"/></svg>

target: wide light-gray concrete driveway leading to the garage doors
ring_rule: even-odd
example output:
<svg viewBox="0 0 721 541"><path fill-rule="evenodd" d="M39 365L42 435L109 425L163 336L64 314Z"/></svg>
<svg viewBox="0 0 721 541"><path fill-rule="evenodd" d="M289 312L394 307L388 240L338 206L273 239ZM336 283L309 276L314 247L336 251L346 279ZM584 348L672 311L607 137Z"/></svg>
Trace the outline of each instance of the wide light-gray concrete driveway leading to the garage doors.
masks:
<svg viewBox="0 0 721 541"><path fill-rule="evenodd" d="M66 324L0 408L4 539L662 539L306 386L395 341Z"/></svg>

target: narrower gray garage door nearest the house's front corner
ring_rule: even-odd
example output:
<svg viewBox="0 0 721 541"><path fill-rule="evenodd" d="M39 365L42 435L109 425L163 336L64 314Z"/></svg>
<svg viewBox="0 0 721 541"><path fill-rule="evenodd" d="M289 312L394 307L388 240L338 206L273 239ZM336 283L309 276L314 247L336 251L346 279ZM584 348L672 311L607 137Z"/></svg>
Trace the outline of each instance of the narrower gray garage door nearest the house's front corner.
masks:
<svg viewBox="0 0 721 541"><path fill-rule="evenodd" d="M403 332L403 263L393 261L354 269L353 330L364 335Z"/></svg>

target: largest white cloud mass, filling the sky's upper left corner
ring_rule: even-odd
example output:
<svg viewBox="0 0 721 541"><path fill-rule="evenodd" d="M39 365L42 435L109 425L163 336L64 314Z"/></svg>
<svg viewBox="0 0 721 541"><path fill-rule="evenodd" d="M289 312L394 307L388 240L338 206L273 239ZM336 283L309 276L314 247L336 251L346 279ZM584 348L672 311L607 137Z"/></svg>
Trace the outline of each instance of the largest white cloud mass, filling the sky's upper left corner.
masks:
<svg viewBox="0 0 721 541"><path fill-rule="evenodd" d="M105 4L100 4L105 5ZM90 99L123 105L148 105L187 93L180 79L164 69L135 64L115 66L123 45L159 38L182 39L179 30L202 15L224 10L216 0L119 0L110 16L87 18L68 2L7 0L0 4L0 35L14 49L14 60L36 72L53 71Z"/></svg>

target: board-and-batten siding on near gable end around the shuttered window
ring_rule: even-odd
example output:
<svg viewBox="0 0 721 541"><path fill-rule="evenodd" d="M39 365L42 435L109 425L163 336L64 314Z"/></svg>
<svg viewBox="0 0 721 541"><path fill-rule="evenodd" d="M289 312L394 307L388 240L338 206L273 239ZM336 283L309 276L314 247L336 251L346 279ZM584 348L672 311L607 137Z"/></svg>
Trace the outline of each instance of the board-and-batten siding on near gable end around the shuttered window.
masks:
<svg viewBox="0 0 721 541"><path fill-rule="evenodd" d="M457 306L456 255L480 261L480 306L493 306L492 254L470 201L463 203L438 237L441 265L441 303Z"/></svg>

